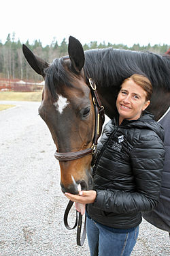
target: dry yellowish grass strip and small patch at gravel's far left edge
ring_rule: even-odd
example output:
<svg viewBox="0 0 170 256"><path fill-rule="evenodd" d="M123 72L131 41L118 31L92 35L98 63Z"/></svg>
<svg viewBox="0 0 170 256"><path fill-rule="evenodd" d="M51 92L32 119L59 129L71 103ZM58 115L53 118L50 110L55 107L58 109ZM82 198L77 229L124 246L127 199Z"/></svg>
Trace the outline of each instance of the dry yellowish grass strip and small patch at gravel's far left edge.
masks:
<svg viewBox="0 0 170 256"><path fill-rule="evenodd" d="M0 100L14 100L14 101L41 101L41 91L35 92L14 92L14 91L1 91ZM0 111L10 109L15 105L0 104Z"/></svg>

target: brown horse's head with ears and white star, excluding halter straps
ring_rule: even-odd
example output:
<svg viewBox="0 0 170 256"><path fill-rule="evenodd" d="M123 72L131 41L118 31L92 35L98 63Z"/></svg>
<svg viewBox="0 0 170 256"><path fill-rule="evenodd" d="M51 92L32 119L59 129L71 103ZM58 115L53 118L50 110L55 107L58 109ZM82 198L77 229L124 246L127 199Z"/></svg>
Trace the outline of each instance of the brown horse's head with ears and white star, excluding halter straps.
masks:
<svg viewBox="0 0 170 256"><path fill-rule="evenodd" d="M33 70L44 77L39 115L50 129L58 154L86 151L92 147L95 109L84 76L82 44L70 37L69 56L54 59L51 64L34 55L24 44L22 50ZM79 184L82 190L91 187L91 160L92 154L74 160L59 160L63 193L77 194Z"/></svg>

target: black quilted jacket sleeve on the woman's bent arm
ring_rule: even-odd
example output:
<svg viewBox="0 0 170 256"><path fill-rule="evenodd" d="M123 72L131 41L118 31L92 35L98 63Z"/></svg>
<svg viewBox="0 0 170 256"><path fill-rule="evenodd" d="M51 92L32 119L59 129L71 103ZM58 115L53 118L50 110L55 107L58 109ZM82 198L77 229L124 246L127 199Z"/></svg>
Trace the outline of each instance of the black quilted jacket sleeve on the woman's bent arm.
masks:
<svg viewBox="0 0 170 256"><path fill-rule="evenodd" d="M153 210L159 201L164 158L163 141L158 136L140 139L130 152L136 191L97 190L93 206L120 214Z"/></svg>

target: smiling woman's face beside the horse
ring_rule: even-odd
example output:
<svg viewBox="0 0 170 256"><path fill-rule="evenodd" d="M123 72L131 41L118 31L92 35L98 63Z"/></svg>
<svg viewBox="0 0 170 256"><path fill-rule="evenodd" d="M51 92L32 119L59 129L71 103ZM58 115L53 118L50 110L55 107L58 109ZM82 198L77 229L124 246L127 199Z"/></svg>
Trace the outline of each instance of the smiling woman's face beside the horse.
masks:
<svg viewBox="0 0 170 256"><path fill-rule="evenodd" d="M146 101L146 91L143 88L133 80L124 82L116 100L119 123L121 124L123 119L137 120L149 104L150 100Z"/></svg>

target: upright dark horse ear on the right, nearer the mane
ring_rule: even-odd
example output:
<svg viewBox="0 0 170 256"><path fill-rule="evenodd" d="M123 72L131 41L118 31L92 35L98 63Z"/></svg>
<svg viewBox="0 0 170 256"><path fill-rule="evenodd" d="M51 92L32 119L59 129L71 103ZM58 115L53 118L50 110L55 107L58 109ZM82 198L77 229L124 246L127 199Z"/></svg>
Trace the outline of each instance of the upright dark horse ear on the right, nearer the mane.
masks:
<svg viewBox="0 0 170 256"><path fill-rule="evenodd" d="M79 40L73 36L69 37L68 53L71 65L80 72L84 66L84 50Z"/></svg>

